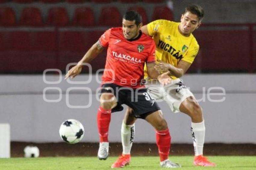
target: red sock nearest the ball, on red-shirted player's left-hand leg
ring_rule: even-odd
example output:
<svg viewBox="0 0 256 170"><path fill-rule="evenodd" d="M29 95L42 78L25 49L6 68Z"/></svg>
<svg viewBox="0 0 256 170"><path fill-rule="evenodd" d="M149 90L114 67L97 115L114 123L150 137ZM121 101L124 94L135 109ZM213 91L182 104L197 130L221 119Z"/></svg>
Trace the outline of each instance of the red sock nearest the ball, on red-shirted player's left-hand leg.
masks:
<svg viewBox="0 0 256 170"><path fill-rule="evenodd" d="M100 142L108 142L108 128L110 120L111 109L103 109L100 106L97 113L97 123Z"/></svg>

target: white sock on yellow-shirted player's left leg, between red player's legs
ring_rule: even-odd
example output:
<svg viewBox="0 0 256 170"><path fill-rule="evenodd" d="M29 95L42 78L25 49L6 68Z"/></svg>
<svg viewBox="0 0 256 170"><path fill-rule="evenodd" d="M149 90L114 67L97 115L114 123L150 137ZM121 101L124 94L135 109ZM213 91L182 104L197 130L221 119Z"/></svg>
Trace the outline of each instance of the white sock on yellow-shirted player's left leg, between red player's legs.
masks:
<svg viewBox="0 0 256 170"><path fill-rule="evenodd" d="M133 125L126 125L122 123L121 136L123 145L123 154L130 154L135 135L135 123Z"/></svg>

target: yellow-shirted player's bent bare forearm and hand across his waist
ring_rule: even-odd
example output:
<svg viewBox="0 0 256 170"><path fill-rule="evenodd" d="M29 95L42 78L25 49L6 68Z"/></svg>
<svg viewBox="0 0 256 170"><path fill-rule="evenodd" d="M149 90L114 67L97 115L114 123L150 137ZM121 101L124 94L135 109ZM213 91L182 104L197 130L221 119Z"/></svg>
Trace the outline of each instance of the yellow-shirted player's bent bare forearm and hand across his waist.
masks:
<svg viewBox="0 0 256 170"><path fill-rule="evenodd" d="M166 71L170 71L170 75L175 76L175 77L182 77L183 74L186 73L186 71L189 69L191 63L180 60L180 62L178 63L177 67L163 62L161 60L158 60L158 64L155 65L155 68L159 71L159 72L166 72Z"/></svg>

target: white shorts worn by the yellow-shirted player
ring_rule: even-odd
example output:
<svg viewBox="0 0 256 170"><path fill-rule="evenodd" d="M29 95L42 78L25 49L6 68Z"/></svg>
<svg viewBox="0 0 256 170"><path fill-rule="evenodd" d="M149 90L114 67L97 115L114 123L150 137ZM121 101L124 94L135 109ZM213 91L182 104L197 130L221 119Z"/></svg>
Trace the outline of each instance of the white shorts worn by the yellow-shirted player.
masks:
<svg viewBox="0 0 256 170"><path fill-rule="evenodd" d="M148 80L145 86L156 101L165 101L174 113L180 112L180 105L186 98L189 96L194 97L179 78L165 86L161 85L159 82L153 83Z"/></svg>

